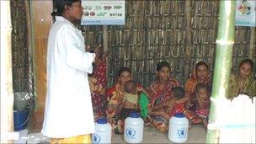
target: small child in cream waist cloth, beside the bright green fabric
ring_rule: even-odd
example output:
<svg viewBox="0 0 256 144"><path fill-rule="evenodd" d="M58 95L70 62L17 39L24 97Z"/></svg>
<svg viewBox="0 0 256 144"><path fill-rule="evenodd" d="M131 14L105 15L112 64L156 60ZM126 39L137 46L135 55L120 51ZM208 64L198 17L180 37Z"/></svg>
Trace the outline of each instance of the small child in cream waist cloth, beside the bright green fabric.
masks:
<svg viewBox="0 0 256 144"><path fill-rule="evenodd" d="M120 120L125 120L131 112L137 112L138 95L135 81L125 83L125 93L123 103L116 110L116 115L120 115Z"/></svg>

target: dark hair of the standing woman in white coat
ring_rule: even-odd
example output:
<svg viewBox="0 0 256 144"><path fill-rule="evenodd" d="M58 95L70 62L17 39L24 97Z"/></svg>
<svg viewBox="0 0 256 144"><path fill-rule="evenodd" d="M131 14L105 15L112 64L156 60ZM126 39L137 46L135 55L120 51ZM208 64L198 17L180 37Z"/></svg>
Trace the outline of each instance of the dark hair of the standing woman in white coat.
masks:
<svg viewBox="0 0 256 144"><path fill-rule="evenodd" d="M61 16L65 10L65 6L72 6L72 3L81 2L81 0L54 0L53 1L53 12L51 16L55 18L55 16Z"/></svg>

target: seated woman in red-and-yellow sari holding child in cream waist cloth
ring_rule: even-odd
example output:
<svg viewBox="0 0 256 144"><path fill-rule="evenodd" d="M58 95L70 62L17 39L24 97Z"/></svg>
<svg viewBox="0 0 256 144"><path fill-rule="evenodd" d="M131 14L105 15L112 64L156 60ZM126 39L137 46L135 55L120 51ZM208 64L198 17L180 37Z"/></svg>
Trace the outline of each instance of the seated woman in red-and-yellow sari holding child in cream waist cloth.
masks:
<svg viewBox="0 0 256 144"><path fill-rule="evenodd" d="M124 120L120 120L116 114L116 110L120 104L122 104L124 92L125 92L125 83L131 80L131 70L127 67L121 67L118 72L118 79L115 85L112 88L107 90L107 99L108 106L106 110L107 120L112 126L112 129L115 134L121 134L124 132ZM147 93L145 88L142 88L141 85L136 84L136 90Z"/></svg>

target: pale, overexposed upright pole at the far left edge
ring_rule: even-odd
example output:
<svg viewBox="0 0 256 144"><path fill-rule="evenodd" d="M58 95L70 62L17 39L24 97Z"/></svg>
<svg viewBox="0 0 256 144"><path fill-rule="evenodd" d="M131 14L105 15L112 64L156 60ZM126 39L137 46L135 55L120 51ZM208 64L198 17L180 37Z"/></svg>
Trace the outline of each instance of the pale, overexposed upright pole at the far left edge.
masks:
<svg viewBox="0 0 256 144"><path fill-rule="evenodd" d="M1 1L1 141L12 143L13 77L10 1Z"/></svg>

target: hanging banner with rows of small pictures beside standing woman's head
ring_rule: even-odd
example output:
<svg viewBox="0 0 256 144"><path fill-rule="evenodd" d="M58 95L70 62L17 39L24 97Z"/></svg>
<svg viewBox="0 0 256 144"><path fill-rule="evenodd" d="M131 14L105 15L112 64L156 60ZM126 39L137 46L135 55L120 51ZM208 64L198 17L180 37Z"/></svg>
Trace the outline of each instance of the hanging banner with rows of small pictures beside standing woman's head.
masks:
<svg viewBox="0 0 256 144"><path fill-rule="evenodd" d="M125 0L83 0L82 25L124 25Z"/></svg>

